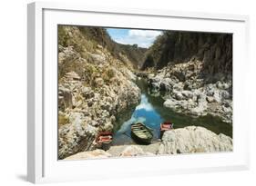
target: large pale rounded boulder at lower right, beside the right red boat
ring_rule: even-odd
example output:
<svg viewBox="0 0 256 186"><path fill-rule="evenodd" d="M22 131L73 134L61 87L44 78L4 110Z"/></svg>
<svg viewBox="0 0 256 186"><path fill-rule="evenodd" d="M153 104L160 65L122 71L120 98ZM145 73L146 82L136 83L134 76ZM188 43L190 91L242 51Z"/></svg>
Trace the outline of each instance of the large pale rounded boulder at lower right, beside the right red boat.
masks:
<svg viewBox="0 0 256 186"><path fill-rule="evenodd" d="M159 154L231 152L232 149L229 136L221 133L218 135L203 127L188 126L165 132Z"/></svg>

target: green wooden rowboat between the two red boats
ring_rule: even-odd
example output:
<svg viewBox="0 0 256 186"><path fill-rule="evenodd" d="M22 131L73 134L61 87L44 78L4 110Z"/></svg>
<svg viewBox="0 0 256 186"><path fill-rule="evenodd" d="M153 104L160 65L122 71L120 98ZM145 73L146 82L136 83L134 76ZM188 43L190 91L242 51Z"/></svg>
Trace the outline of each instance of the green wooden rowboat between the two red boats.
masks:
<svg viewBox="0 0 256 186"><path fill-rule="evenodd" d="M141 144L150 144L153 138L153 133L148 129L148 127L141 123L133 123L130 126L131 137L135 142Z"/></svg>

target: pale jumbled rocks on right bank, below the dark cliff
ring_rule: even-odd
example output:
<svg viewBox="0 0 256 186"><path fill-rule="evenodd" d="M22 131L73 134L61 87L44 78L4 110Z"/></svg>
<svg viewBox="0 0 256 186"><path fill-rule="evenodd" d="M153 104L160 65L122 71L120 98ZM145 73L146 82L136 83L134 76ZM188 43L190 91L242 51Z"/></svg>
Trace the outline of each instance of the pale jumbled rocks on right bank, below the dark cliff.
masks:
<svg viewBox="0 0 256 186"><path fill-rule="evenodd" d="M162 95L164 106L191 116L211 114L232 123L232 81L223 73L202 73L203 63L193 59L185 64L167 65L148 73L151 93ZM145 76L145 75L144 75Z"/></svg>

